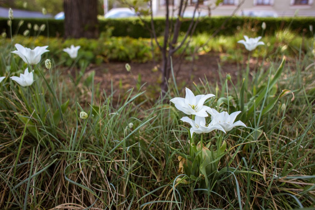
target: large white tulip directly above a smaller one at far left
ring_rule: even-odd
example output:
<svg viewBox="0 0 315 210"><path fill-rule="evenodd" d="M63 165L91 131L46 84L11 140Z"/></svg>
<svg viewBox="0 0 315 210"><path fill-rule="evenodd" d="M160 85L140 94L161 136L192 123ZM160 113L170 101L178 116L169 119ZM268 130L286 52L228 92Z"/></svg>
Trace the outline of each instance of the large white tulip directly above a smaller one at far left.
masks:
<svg viewBox="0 0 315 210"><path fill-rule="evenodd" d="M38 64L42 58L42 54L49 51L46 49L48 46L36 47L34 49L25 48L20 44L15 44L14 46L17 50L11 53L19 55L20 58L29 65Z"/></svg>

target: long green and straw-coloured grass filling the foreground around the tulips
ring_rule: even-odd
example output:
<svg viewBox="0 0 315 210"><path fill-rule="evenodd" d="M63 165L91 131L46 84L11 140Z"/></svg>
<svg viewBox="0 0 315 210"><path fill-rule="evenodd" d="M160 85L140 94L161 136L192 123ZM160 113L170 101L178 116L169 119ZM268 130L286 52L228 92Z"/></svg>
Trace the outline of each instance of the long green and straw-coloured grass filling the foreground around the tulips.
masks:
<svg viewBox="0 0 315 210"><path fill-rule="evenodd" d="M58 60L48 71L45 54L33 66L35 82L22 88L9 77L26 65L15 62L10 51L10 43L1 45L0 76L7 77L0 83L1 209L314 207L312 47L287 57L278 74L286 50L263 57L267 68L256 65L246 72L239 65L239 77L229 81L223 75L217 86L206 79L187 84L195 94L215 94L206 105L217 110L243 109L240 119L248 126L227 135L219 168L230 171L221 173L207 193L198 182L175 181L183 178L177 156L188 153L189 138L179 126L184 115L173 105L152 100L142 88L100 89L86 65L76 78ZM169 85L166 101L184 97L173 80ZM289 94L281 95L284 89ZM82 110L89 112L87 120L78 117ZM214 142L215 135L203 139Z"/></svg>

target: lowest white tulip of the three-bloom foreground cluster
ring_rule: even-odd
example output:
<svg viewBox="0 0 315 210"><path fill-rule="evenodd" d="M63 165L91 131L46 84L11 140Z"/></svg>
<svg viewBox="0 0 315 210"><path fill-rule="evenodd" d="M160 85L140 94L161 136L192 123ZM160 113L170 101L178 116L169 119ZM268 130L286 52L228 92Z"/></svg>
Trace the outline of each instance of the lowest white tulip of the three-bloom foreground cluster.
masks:
<svg viewBox="0 0 315 210"><path fill-rule="evenodd" d="M221 130L225 133L224 129L219 124L213 124L212 122L206 126L206 119L204 117L196 116L195 120L189 117L182 117L180 119L183 122L188 122L192 128L190 128L190 135L193 133L210 133L213 130Z"/></svg>

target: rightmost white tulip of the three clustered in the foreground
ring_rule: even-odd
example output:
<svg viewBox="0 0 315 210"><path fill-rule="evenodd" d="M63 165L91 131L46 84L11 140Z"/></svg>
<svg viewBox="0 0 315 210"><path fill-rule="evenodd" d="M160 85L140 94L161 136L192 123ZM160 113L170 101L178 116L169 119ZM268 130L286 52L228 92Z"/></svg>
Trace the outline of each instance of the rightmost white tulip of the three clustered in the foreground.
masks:
<svg viewBox="0 0 315 210"><path fill-rule="evenodd" d="M208 112L211 115L211 123L213 125L220 125L226 132L232 130L232 128L236 126L244 126L245 128L247 128L246 125L240 120L234 122L241 111L233 112L230 115L226 111L222 111L221 113L219 113L215 109L211 109L211 111Z"/></svg>

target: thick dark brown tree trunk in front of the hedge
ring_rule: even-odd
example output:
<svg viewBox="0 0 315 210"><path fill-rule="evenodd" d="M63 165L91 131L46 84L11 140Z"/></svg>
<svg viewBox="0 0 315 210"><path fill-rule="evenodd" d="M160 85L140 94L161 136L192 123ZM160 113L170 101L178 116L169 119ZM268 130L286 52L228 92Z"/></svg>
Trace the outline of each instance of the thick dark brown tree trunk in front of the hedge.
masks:
<svg viewBox="0 0 315 210"><path fill-rule="evenodd" d="M65 38L98 38L97 0L64 0Z"/></svg>

